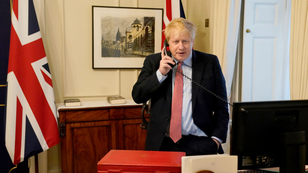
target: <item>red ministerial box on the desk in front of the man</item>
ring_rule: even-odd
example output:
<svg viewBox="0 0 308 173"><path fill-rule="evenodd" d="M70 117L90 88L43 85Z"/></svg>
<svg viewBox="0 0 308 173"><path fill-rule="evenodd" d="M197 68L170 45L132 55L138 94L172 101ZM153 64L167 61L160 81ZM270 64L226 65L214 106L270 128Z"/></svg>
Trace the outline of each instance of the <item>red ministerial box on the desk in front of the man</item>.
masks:
<svg viewBox="0 0 308 173"><path fill-rule="evenodd" d="M111 150L98 162L98 173L180 173L184 152Z"/></svg>

